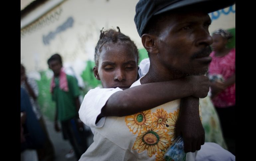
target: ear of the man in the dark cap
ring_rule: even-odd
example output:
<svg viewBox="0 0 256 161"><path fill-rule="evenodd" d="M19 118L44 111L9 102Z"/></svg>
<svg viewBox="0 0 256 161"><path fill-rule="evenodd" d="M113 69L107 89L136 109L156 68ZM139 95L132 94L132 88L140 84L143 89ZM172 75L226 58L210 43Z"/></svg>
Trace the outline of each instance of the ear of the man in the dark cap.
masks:
<svg viewBox="0 0 256 161"><path fill-rule="evenodd" d="M141 37L142 44L149 53L158 53L156 38L156 36L150 34L143 34Z"/></svg>

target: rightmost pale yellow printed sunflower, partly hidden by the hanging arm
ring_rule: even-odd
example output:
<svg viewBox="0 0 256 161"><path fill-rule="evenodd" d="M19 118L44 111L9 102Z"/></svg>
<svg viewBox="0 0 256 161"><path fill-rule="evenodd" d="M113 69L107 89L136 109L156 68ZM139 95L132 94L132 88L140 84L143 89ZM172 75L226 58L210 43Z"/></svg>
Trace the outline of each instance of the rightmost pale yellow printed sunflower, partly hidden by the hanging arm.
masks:
<svg viewBox="0 0 256 161"><path fill-rule="evenodd" d="M179 117L179 110L175 111L174 113L169 113L169 118L167 118L166 121L166 128L167 128L167 134L169 134L169 137L171 141L175 140L175 128L176 128L176 122L178 121Z"/></svg>

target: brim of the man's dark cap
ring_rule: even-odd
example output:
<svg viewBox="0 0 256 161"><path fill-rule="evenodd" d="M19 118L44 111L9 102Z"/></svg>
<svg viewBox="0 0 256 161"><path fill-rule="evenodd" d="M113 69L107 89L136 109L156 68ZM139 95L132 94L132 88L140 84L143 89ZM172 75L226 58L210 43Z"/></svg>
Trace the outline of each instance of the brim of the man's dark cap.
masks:
<svg viewBox="0 0 256 161"><path fill-rule="evenodd" d="M158 15L167 11L193 7L195 10L202 10L207 13L211 13L228 6L231 6L235 3L235 0L182 0L175 2L167 7L160 9L154 15Z"/></svg>

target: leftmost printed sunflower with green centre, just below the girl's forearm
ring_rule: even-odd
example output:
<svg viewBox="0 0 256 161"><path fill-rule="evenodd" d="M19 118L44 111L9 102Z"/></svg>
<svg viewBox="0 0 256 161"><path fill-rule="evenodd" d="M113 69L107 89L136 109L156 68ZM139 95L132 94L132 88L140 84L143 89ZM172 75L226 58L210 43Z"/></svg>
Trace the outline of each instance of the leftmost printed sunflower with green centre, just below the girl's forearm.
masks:
<svg viewBox="0 0 256 161"><path fill-rule="evenodd" d="M133 134L136 134L137 132L139 134L141 129L143 129L145 126L150 125L150 123L152 122L151 111L147 110L134 115L126 116L125 122Z"/></svg>

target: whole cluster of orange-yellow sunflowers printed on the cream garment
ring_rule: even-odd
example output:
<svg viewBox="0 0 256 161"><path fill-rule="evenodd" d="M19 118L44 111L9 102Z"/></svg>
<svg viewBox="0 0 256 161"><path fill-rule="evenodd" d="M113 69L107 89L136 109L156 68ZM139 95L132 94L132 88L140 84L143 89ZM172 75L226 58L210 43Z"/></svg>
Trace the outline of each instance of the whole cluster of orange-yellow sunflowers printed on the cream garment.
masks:
<svg viewBox="0 0 256 161"><path fill-rule="evenodd" d="M138 153L147 150L149 157L156 154L156 160L168 160L163 156L175 140L178 116L179 110L168 114L161 108L154 113L147 110L125 117L127 127L137 135L132 149L138 150Z"/></svg>

